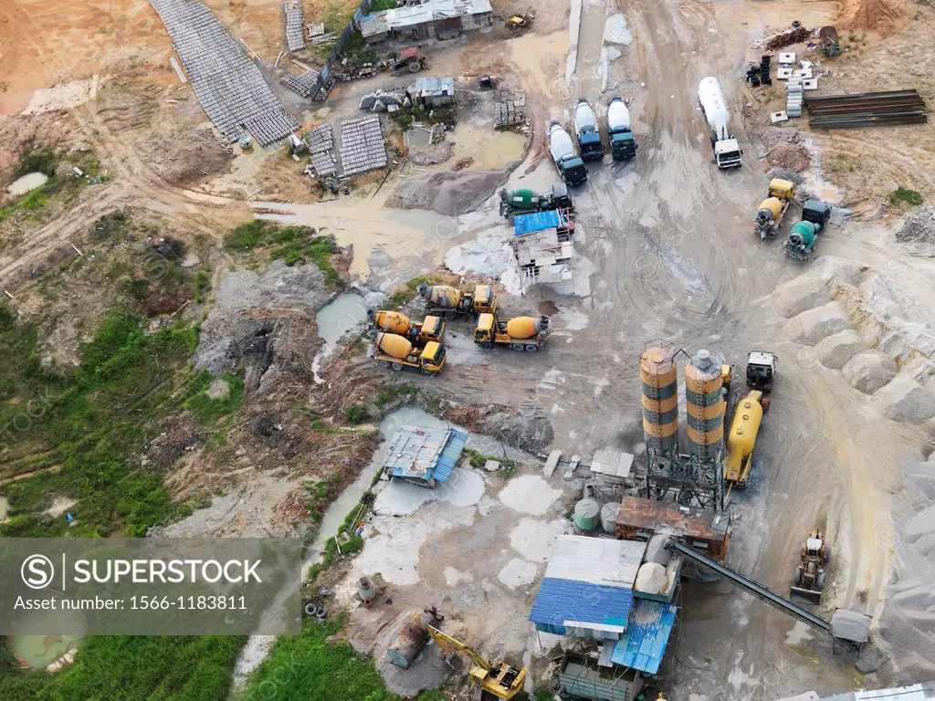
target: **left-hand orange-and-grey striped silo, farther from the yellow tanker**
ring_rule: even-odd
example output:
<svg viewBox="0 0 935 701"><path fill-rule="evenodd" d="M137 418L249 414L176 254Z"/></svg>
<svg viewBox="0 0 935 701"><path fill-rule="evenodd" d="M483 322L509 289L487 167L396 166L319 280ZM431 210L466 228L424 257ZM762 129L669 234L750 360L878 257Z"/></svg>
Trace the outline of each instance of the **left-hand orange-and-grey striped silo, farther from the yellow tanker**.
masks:
<svg viewBox="0 0 935 701"><path fill-rule="evenodd" d="M640 354L643 436L647 448L679 451L679 378L673 350L662 344Z"/></svg>

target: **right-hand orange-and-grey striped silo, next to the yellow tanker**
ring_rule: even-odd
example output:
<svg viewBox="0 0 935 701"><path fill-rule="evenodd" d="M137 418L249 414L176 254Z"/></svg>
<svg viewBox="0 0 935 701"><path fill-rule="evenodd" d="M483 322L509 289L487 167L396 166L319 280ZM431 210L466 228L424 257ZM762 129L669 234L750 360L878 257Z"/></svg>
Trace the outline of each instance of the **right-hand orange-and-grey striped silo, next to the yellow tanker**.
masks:
<svg viewBox="0 0 935 701"><path fill-rule="evenodd" d="M701 460L714 460L724 447L724 379L721 361L698 350L685 368L685 421L688 451Z"/></svg>

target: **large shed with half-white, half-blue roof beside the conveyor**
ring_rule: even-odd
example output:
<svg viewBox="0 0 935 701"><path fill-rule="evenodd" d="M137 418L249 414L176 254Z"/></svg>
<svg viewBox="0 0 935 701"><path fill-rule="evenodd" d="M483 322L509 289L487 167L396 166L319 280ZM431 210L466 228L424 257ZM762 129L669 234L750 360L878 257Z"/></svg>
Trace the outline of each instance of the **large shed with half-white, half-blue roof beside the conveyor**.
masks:
<svg viewBox="0 0 935 701"><path fill-rule="evenodd" d="M559 536L529 620L542 633L619 640L646 543Z"/></svg>

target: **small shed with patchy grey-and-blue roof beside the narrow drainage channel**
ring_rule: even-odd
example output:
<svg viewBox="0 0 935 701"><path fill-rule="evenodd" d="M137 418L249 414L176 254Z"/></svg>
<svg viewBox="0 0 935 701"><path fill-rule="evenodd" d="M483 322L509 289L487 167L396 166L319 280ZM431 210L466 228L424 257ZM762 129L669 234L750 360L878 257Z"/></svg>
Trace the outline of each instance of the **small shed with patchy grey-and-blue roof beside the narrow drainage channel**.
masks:
<svg viewBox="0 0 935 701"><path fill-rule="evenodd" d="M451 477L468 442L468 434L453 428L402 426L390 440L382 469L391 479L434 487Z"/></svg>

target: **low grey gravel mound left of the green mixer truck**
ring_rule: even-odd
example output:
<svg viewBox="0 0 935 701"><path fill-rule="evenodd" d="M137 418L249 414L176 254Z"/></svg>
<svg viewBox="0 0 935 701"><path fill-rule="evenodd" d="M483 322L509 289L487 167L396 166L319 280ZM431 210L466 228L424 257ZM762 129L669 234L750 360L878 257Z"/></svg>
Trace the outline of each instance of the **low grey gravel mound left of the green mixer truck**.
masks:
<svg viewBox="0 0 935 701"><path fill-rule="evenodd" d="M400 182L386 204L401 209L434 209L439 214L456 216L479 206L506 179L499 170L424 173Z"/></svg>

